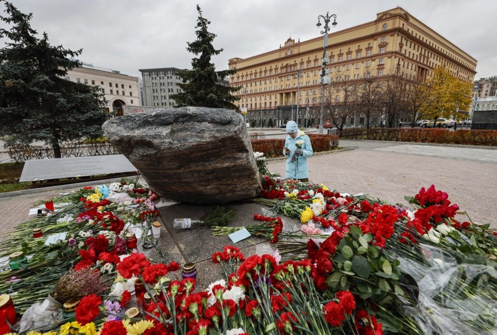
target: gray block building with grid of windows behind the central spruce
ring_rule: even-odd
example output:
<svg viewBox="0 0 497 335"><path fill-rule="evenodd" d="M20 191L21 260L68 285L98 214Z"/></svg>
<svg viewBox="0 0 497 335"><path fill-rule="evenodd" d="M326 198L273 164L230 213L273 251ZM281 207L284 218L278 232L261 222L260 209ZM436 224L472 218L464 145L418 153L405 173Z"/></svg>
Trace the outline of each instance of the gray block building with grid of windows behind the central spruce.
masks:
<svg viewBox="0 0 497 335"><path fill-rule="evenodd" d="M176 67L140 69L143 82L143 105L157 108L174 107L175 102L170 95L182 92L178 85L183 82L178 75L178 71L181 70ZM230 84L228 78L220 80L219 83L225 86Z"/></svg>

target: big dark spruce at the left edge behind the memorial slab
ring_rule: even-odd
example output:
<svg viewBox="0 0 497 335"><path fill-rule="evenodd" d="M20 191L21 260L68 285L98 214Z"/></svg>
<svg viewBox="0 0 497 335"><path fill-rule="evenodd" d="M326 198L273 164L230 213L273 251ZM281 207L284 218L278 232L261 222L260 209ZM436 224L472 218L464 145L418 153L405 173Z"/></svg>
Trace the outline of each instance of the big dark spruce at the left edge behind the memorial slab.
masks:
<svg viewBox="0 0 497 335"><path fill-rule="evenodd" d="M101 136L107 118L103 95L97 87L65 79L68 70L81 67L74 57L82 50L52 46L46 33L37 38L32 13L0 2L7 13L0 19L11 25L0 28L0 38L10 40L0 49L0 135L10 136L6 146L42 140L60 158L62 141Z"/></svg>

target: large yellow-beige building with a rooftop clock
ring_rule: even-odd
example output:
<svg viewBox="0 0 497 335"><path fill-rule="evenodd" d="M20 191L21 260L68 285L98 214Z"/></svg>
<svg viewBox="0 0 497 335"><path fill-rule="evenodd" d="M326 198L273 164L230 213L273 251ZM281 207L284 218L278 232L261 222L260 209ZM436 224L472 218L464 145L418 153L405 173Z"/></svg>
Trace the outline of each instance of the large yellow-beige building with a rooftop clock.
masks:
<svg viewBox="0 0 497 335"><path fill-rule="evenodd" d="M476 59L401 7L378 13L374 21L331 32L328 43L326 68L332 80L359 82L366 75L395 74L425 80L439 66L467 82L476 74ZM267 127L271 119L277 127L296 119L298 104L299 125L306 113L308 126L318 124L322 58L323 36L302 42L289 38L275 50L230 59L229 67L237 69L230 85L243 86L236 103L240 109L247 107L248 121Z"/></svg>

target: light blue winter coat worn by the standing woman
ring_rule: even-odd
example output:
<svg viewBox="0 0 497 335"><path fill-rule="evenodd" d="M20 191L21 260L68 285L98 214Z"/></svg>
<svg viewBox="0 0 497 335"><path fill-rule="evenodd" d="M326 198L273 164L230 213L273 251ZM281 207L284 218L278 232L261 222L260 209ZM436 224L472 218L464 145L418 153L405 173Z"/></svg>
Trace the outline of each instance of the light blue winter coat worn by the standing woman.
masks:
<svg viewBox="0 0 497 335"><path fill-rule="evenodd" d="M297 141L304 141L302 145L302 151L304 154L299 156L299 159L294 159L292 162L292 156L297 149L295 143ZM309 178L309 168L307 166L307 158L314 155L314 151L312 150L311 140L309 136L304 135L292 138L290 135L286 136L285 139L285 147L290 149L290 153L287 155L285 153L285 148L283 148L283 155L288 156L286 159L286 167L285 167L285 177L292 179L305 179Z"/></svg>

